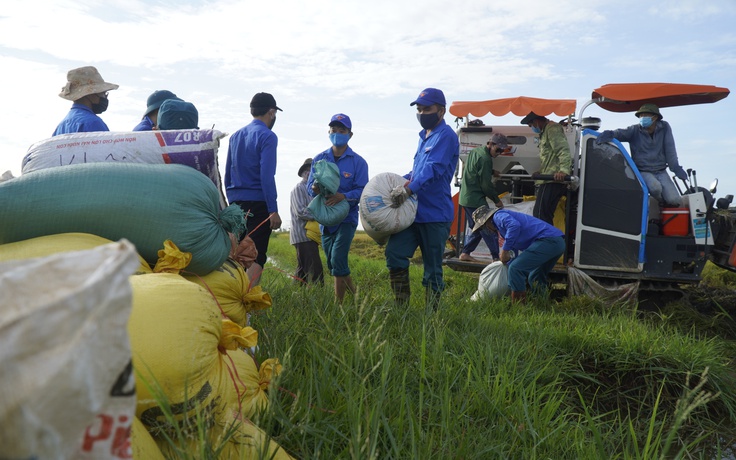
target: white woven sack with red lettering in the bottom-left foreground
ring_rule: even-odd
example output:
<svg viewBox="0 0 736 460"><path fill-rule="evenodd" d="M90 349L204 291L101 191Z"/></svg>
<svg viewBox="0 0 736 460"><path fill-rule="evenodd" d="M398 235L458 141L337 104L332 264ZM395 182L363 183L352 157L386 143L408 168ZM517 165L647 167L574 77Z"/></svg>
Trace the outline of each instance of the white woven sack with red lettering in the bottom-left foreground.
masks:
<svg viewBox="0 0 736 460"><path fill-rule="evenodd" d="M0 458L130 458L129 242L0 263Z"/></svg>

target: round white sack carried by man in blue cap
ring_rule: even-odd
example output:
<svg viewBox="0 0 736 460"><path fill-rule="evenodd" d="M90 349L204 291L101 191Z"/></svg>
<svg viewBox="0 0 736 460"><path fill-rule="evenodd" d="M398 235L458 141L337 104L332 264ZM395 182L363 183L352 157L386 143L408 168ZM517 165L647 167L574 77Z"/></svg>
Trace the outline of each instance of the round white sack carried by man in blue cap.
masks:
<svg viewBox="0 0 736 460"><path fill-rule="evenodd" d="M391 207L391 190L406 179L395 173L374 176L360 196L360 223L365 232L380 245L388 237L408 228L417 215L417 196L412 194L398 208Z"/></svg>

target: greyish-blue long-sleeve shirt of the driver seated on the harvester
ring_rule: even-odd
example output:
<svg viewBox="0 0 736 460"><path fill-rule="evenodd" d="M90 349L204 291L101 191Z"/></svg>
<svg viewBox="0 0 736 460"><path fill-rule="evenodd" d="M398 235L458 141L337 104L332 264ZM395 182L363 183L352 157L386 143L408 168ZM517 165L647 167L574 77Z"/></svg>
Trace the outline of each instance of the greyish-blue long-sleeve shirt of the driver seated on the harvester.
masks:
<svg viewBox="0 0 736 460"><path fill-rule="evenodd" d="M649 134L639 125L631 125L628 128L614 130L613 137L629 143L631 159L639 171L654 173L669 166L670 171L678 177L686 177L677 160L672 128L666 121L658 120L653 134Z"/></svg>

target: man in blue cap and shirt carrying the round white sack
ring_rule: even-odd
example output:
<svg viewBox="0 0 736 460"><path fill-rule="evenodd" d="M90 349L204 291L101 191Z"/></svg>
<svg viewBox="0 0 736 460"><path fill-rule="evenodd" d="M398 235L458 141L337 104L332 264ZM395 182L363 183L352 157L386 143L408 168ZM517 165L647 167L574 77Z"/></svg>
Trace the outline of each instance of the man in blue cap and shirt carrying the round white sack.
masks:
<svg viewBox="0 0 736 460"><path fill-rule="evenodd" d="M391 289L397 305L407 305L409 290L409 259L421 248L424 263L422 285L426 290L428 312L439 308L440 294L445 288L442 259L454 218L450 183L457 166L460 143L455 131L445 123L445 95L436 88L427 88L409 104L417 107L417 120L422 126L419 145L414 154L412 171L407 182L391 191L394 206L411 195L417 195L417 214L409 228L395 233L386 243L386 265Z"/></svg>

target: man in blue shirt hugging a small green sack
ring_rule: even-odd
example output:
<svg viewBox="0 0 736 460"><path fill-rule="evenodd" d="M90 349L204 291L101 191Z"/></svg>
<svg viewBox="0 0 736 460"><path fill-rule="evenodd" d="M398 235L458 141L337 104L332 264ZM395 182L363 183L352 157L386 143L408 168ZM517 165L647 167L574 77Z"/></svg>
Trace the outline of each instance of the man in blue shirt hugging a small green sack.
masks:
<svg viewBox="0 0 736 460"><path fill-rule="evenodd" d="M353 137L353 123L345 114L338 113L332 116L328 124L328 135L332 146L316 155L312 162L311 172L307 180L307 188L311 194L319 194L319 188L314 183L314 165L320 160L326 160L337 165L340 171L340 187L330 195L325 204L334 206L347 200L350 204L345 219L338 225L320 225L322 231L322 249L327 259L327 269L335 277L335 299L342 302L345 293L355 293L353 278L350 276L348 252L358 227L358 203L365 184L368 183L368 163L348 146Z"/></svg>

